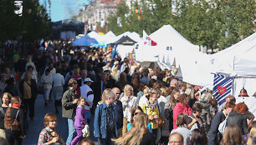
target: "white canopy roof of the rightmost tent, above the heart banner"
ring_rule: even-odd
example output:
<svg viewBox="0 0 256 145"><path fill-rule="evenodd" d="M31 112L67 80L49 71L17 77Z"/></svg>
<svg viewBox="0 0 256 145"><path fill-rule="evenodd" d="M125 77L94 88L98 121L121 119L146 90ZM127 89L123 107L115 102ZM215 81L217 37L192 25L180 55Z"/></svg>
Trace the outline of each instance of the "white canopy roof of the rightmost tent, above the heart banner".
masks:
<svg viewBox="0 0 256 145"><path fill-rule="evenodd" d="M212 55L214 72L231 75L256 74L256 32L241 42Z"/></svg>

